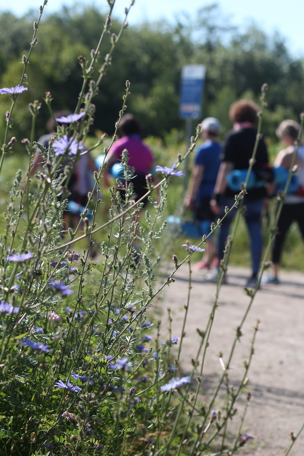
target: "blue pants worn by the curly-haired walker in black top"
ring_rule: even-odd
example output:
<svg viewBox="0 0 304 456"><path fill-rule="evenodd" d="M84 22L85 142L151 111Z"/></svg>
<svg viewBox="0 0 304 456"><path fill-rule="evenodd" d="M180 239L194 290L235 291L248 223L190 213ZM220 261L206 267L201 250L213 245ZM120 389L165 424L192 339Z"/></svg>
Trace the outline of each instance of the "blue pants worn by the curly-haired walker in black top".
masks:
<svg viewBox="0 0 304 456"><path fill-rule="evenodd" d="M246 206L245 211L245 221L250 237L250 251L251 251L251 260L252 260L252 274L257 274L263 248L263 239L262 239L262 225L261 225L261 214L263 209L263 199L257 199L254 201L245 201L244 206ZM220 217L223 217L225 212L225 207L228 206L229 209L235 203L235 199L232 197L221 197L220 199ZM233 209L226 218L223 220L220 226L219 234L219 259L223 259L226 239L229 234L229 227L236 213L236 208Z"/></svg>

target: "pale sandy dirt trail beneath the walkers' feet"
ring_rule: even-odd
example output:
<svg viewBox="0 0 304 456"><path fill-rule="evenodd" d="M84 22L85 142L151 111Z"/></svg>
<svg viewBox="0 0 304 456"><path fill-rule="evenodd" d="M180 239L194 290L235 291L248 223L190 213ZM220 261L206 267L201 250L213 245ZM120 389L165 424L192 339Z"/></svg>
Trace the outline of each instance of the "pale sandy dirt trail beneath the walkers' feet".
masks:
<svg viewBox="0 0 304 456"><path fill-rule="evenodd" d="M172 334L180 336L188 293L188 265L183 265L174 276L176 282L167 288L163 300L163 332L165 334L167 311L173 313ZM241 322L249 297L245 284L249 270L230 267L228 285L220 290L219 307L210 337L210 347L205 361L202 399L210 397L213 386L222 373L218 353L228 357L235 330ZM246 415L245 432L255 436L245 454L251 456L278 456L290 443L290 432L297 432L304 420L304 275L282 273L281 285L262 285L257 292L252 309L243 326L241 342L229 372L231 384L237 385L244 373L243 362L248 358L253 327L259 319L260 326L255 343L255 354L249 370L252 399ZM191 368L191 358L196 354L199 336L196 328L204 329L211 311L215 285L204 283L203 273L192 268L192 289L186 337L182 350L182 369ZM236 416L236 421L240 419ZM299 437L290 455L304 456L304 433Z"/></svg>

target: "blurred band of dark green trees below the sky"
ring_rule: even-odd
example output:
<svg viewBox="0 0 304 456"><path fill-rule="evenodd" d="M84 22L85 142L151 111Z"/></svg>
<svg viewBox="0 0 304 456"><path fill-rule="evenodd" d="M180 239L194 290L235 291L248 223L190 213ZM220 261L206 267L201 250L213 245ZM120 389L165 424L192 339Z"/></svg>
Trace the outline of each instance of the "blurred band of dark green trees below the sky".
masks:
<svg viewBox="0 0 304 456"><path fill-rule="evenodd" d="M12 87L20 80L21 56L27 54L24 47L31 40L34 19L33 11L21 18L11 13L0 15L1 87ZM105 16L93 6L63 7L44 17L28 66L29 91L17 101L17 139L23 137L31 123L28 103L34 99L42 101L46 90L52 93L54 110L75 108L82 85L77 57L89 58L104 20ZM119 21L113 20L108 39L100 49L101 56L110 49L110 33L117 33L119 27ZM303 60L288 52L284 38L278 33L268 36L256 26L250 26L245 32L233 27L217 4L201 8L195 21L183 15L175 24L162 21L127 28L113 58L116 64L109 67L100 93L94 98L94 129L109 134L113 133L125 81L129 79L132 93L129 112L141 119L145 135L161 137L166 144L168 132L183 127L183 120L178 118L180 71L189 63L206 65L204 117L218 117L224 133L231 128L230 104L243 96L258 101L265 82L269 85L269 110L263 122L266 136L274 138L279 122L287 117L298 119L303 110ZM8 97L1 98L2 119L9 104ZM45 133L47 118L47 108L42 106L37 135ZM5 123L1 122L0 134L4 128Z"/></svg>

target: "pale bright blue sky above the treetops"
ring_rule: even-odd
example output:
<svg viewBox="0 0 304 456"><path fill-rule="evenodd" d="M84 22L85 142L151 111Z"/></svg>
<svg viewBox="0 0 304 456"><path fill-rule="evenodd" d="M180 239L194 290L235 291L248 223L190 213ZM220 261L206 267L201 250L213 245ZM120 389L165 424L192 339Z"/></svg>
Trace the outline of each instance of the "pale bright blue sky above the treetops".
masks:
<svg viewBox="0 0 304 456"><path fill-rule="evenodd" d="M114 14L123 17L124 9L131 0L116 0ZM128 22L130 26L142 21L157 21L174 18L186 11L194 17L195 11L216 0L135 0ZM0 0L0 11L9 10L22 16L30 8L38 8L42 0L12 0L9 5ZM6 3L6 5L5 5ZM73 5L75 0L48 0L47 12L52 13L64 5ZM106 0L82 0L81 5L94 5L107 11ZM303 0L219 0L222 13L228 16L233 25L245 28L254 22L266 33L279 31L286 38L288 50L295 57L304 57L304 1Z"/></svg>

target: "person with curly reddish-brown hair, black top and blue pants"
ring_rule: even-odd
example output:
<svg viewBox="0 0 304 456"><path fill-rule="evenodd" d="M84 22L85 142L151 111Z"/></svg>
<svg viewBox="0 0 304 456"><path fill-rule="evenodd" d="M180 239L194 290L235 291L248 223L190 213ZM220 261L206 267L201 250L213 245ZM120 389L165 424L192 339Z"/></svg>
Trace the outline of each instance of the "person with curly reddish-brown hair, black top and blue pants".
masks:
<svg viewBox="0 0 304 456"><path fill-rule="evenodd" d="M233 129L227 134L221 157L221 165L216 178L214 194L210 201L212 211L223 217L225 207L231 208L235 203L235 191L227 186L226 176L232 170L243 170L249 167L254 145L257 139L257 121L259 107L251 100L241 99L230 107L229 117ZM253 171L257 171L268 164L268 153L262 136L259 138ZM264 200L267 197L266 187L253 187L245 196L245 221L250 237L250 250L252 258L252 275L247 280L246 286L255 288L257 274L262 255L262 227L261 214ZM232 210L220 226L218 255L221 261L224 257L226 240L229 228L236 211ZM206 280L215 282L219 269L215 269L206 276ZM224 276L223 282L225 283Z"/></svg>

